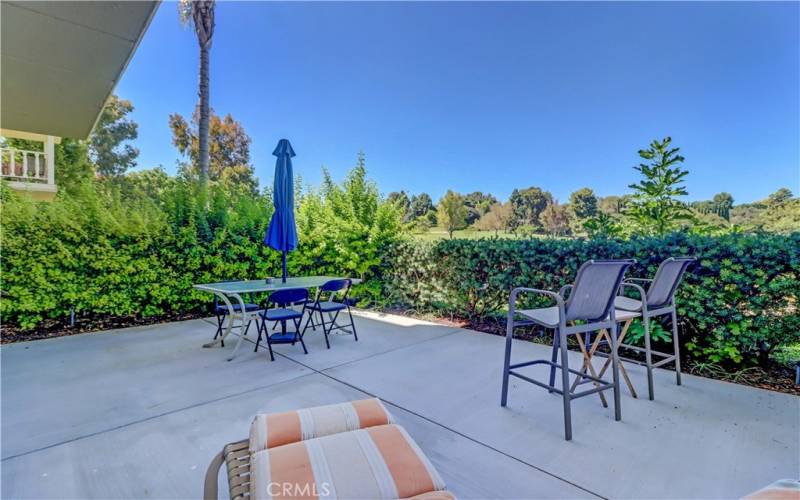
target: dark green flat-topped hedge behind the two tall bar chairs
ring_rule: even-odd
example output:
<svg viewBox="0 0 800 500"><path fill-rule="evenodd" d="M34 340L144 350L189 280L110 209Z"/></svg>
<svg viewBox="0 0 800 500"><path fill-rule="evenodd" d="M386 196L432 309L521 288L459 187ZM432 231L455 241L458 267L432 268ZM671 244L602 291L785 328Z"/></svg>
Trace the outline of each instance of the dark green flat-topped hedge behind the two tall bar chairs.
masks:
<svg viewBox="0 0 800 500"><path fill-rule="evenodd" d="M629 276L652 278L662 260L681 255L698 257L677 297L693 358L766 363L776 347L800 342L800 233L410 241L388 255L383 280L396 304L480 320L504 314L514 287L572 283L588 259L635 258Z"/></svg>

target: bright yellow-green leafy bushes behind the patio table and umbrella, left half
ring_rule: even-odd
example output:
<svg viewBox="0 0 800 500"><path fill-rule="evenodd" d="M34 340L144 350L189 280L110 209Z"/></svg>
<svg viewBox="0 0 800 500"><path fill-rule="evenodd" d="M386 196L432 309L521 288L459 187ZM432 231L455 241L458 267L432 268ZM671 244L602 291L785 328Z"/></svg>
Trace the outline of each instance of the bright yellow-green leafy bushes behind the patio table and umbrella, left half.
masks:
<svg viewBox="0 0 800 500"><path fill-rule="evenodd" d="M270 197L212 184L200 210L195 186L151 170L76 182L52 203L3 186L3 321L32 329L72 307L90 317L201 311L210 297L193 284L279 276L280 254L262 243ZM400 226L361 165L342 186L328 179L301 197L289 272L369 277Z"/></svg>

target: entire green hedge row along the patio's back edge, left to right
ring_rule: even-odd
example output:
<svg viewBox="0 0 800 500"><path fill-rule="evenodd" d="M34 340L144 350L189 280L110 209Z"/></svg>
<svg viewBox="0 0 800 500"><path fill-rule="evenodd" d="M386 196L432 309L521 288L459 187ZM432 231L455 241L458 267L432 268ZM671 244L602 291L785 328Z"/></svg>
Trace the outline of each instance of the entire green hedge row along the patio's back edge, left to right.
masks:
<svg viewBox="0 0 800 500"><path fill-rule="evenodd" d="M51 204L3 193L3 322L32 329L65 321L71 307L88 317L202 311L210 297L192 284L280 272L277 252L261 243L267 200L219 196L203 236L191 192L177 181L160 189L157 197L119 196L86 185ZM362 306L482 320L504 315L513 287L557 290L590 258L633 257L638 263L630 274L652 277L663 259L695 255L699 262L678 294L684 352L747 365L766 362L777 346L800 342L800 233L398 240L399 217L391 207L347 201L361 198L335 190L303 198L292 274L366 278L356 290Z"/></svg>

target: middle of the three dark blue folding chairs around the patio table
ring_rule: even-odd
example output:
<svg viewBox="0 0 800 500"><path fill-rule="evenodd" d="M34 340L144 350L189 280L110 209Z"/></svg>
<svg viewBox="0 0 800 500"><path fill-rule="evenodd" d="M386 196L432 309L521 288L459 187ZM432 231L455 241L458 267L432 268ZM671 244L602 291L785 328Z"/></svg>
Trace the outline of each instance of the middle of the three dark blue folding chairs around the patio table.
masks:
<svg viewBox="0 0 800 500"><path fill-rule="evenodd" d="M308 290L305 288L285 288L277 290L269 294L265 300L264 310L261 311L261 324L258 328L258 340L256 340L255 352L258 352L258 346L261 343L262 335L267 342L269 348L269 359L275 361L275 354L272 352L272 344L292 344L300 342L303 346L303 352L308 354L306 344L303 342L303 334L300 332L300 325L303 322L303 316L306 311L306 302L308 301ZM302 304L302 308L298 311L292 309L294 304ZM275 307L270 308L270 305ZM276 321L281 324L281 331L270 335L267 329L267 323ZM294 331L286 331L286 322L292 321L294 324Z"/></svg>

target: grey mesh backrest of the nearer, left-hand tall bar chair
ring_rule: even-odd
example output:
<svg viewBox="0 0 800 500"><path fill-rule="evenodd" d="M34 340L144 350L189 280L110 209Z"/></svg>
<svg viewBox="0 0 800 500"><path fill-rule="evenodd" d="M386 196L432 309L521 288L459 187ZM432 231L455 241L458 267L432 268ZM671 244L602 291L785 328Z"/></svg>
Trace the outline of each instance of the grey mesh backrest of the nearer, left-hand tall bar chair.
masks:
<svg viewBox="0 0 800 500"><path fill-rule="evenodd" d="M566 321L606 318L614 305L625 271L634 262L630 259L590 260L583 264L565 304Z"/></svg>

